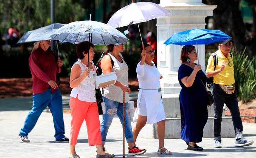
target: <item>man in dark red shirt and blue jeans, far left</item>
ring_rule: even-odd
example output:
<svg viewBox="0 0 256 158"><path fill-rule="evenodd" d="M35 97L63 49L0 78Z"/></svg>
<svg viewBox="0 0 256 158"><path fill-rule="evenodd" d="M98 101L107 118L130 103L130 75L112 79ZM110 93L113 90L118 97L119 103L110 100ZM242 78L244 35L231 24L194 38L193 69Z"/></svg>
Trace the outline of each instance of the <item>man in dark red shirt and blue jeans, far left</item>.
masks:
<svg viewBox="0 0 256 158"><path fill-rule="evenodd" d="M55 60L50 50L50 40L35 42L32 53L29 57L29 67L33 79L33 106L20 129L18 137L24 143L30 142L28 134L35 127L36 122L48 106L53 115L55 128L55 141L68 142L64 136L65 128L62 112L62 96L58 87L59 81L56 74L60 73L63 61Z"/></svg>

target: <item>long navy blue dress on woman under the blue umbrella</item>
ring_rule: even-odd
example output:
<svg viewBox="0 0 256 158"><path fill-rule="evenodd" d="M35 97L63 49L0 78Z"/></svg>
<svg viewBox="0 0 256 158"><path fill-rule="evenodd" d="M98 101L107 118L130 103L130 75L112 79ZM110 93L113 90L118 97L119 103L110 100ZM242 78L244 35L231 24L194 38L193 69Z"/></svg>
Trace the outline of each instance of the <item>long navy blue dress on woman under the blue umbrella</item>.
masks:
<svg viewBox="0 0 256 158"><path fill-rule="evenodd" d="M198 71L191 87L186 87L181 79L189 77L194 69L182 64L178 71L178 80L182 89L179 93L179 105L181 108L181 139L199 143L203 137L203 127L207 122L207 92L202 84L206 83L206 75L202 70ZM201 78L201 80L200 80Z"/></svg>

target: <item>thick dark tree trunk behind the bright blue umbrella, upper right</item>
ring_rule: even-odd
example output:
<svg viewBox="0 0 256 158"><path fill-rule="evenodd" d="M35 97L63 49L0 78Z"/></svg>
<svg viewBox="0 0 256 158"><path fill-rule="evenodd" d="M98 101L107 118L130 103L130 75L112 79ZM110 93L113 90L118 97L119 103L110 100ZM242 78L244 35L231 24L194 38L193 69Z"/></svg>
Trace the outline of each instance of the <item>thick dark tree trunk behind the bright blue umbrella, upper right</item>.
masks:
<svg viewBox="0 0 256 158"><path fill-rule="evenodd" d="M255 52L255 38L246 30L241 12L239 11L240 0L202 0L208 5L218 5L213 10L214 29L220 29L230 35L234 46L241 51L246 46L247 53Z"/></svg>

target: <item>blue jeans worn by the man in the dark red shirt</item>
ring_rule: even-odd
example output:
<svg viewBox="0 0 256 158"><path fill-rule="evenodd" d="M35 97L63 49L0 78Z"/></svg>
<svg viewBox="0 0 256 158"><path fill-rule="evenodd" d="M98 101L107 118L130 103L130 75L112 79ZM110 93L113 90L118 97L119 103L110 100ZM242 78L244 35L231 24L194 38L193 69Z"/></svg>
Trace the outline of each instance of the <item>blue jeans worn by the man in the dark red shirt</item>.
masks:
<svg viewBox="0 0 256 158"><path fill-rule="evenodd" d="M28 136L28 134L35 127L39 116L47 106L49 107L51 114L53 115L55 139L60 140L65 137L65 128L62 112L62 96L60 90L56 90L52 94L50 88L48 88L43 93L33 95L33 106L25 119L23 127L19 131L20 135Z"/></svg>

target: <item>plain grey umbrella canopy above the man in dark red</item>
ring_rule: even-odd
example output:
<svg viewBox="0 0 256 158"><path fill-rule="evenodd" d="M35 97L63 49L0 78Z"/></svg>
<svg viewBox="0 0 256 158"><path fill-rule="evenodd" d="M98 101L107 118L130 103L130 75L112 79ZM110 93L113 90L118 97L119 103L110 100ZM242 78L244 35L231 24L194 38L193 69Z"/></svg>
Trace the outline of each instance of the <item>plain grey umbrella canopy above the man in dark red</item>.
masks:
<svg viewBox="0 0 256 158"><path fill-rule="evenodd" d="M50 35L53 34L58 28L64 25L65 24L55 23L48 26L40 27L38 29L34 29L32 31L28 31L22 36L22 38L19 39L17 44L50 40L51 39Z"/></svg>

